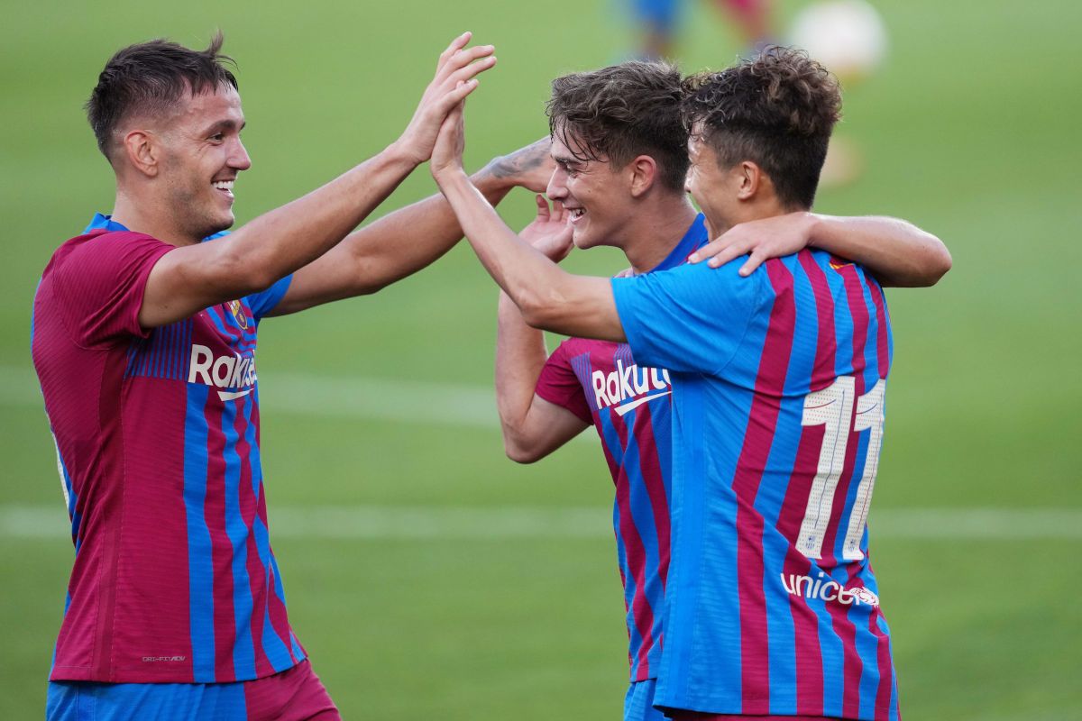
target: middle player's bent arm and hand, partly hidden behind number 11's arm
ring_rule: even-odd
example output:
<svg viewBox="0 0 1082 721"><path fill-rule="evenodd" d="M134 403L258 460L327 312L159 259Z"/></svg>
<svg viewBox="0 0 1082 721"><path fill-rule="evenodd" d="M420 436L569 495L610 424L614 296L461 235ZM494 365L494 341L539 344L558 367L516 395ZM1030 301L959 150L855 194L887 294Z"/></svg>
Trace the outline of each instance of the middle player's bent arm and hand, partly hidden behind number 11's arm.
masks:
<svg viewBox="0 0 1082 721"><path fill-rule="evenodd" d="M559 262L571 249L564 208L556 203L550 212L542 196L537 201L538 216L520 237ZM544 334L527 325L518 307L501 291L496 335L496 403L504 451L518 463L543 458L586 428L578 415L535 392L547 360Z"/></svg>

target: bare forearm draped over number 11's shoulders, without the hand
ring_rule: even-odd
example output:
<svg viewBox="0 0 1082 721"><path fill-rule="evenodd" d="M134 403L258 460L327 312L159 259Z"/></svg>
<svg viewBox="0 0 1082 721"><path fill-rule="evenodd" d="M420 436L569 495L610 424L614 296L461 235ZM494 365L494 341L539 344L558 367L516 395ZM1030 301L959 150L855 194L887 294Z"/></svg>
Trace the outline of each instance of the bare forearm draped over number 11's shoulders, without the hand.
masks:
<svg viewBox="0 0 1082 721"><path fill-rule="evenodd" d="M934 285L951 267L942 241L892 217L813 214L810 245L856 261L884 284Z"/></svg>

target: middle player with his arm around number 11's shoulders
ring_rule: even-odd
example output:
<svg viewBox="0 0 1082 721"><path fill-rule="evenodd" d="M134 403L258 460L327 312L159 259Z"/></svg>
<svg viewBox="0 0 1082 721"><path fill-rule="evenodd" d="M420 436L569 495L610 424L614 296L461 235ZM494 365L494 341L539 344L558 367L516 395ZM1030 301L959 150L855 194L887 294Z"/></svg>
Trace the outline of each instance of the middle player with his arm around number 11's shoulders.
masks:
<svg viewBox="0 0 1082 721"><path fill-rule="evenodd" d="M549 204L522 237L554 261L571 244L621 249L634 272L671 268L708 239L684 190L687 131L681 116L681 77L664 63L624 63L557 78L549 103L556 170ZM599 161L598 158L604 158ZM652 169L645 191L620 170ZM576 222L566 219L573 214ZM950 255L933 236L893 218L836 218L790 213L729 229L725 257L754 251L745 271L766 254L812 243L873 269L884 284L935 283ZM624 583L631 686L626 721L660 718L652 709L661 656L661 619L670 559L670 382L667 371L639 366L626 344L569 338L547 356L530 328L500 295L496 389L507 455L531 463L593 425L616 488L613 525Z"/></svg>

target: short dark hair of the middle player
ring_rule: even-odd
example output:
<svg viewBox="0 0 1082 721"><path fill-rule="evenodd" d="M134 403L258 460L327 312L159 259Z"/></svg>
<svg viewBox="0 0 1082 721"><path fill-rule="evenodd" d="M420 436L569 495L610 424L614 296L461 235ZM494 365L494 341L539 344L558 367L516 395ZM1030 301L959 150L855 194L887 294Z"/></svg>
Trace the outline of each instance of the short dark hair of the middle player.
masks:
<svg viewBox="0 0 1082 721"><path fill-rule="evenodd" d="M687 132L681 121L679 70L669 63L632 61L552 81L549 130L580 160L603 156L622 168L654 158L661 183L682 191Z"/></svg>

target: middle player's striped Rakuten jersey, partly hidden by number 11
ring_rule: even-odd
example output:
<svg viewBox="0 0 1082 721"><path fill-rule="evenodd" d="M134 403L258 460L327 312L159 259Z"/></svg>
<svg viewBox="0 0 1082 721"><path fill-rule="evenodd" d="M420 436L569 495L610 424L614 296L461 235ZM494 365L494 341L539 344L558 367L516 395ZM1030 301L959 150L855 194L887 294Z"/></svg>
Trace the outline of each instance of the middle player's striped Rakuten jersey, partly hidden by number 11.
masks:
<svg viewBox="0 0 1082 721"><path fill-rule="evenodd" d="M707 240L699 215L652 271L684 263ZM568 338L545 362L536 392L592 424L601 437L616 485L612 528L623 582L631 680L656 678L669 568L669 372L637 365L628 344Z"/></svg>

